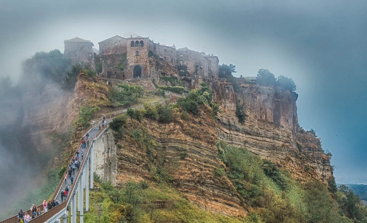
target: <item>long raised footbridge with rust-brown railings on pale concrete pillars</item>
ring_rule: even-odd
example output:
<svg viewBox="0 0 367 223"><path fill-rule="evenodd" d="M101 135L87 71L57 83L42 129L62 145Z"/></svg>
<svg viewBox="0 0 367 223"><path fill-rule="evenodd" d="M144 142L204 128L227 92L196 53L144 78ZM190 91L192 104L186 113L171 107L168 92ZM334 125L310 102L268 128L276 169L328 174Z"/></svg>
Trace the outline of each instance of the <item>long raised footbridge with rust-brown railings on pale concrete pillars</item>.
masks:
<svg viewBox="0 0 367 223"><path fill-rule="evenodd" d="M160 100L157 102L152 102L150 105L156 106L158 104L168 104L172 102L172 98ZM132 107L132 109L142 108L143 105ZM89 210L89 189L93 189L93 173L97 171L99 152L103 150L103 146L100 146L101 141L103 141L104 132L108 130L109 123L112 121L113 117L118 116L119 114L126 113L127 109L122 109L118 111L113 111L110 113L106 113L103 116L106 118L106 125L99 129L99 124L102 123L103 118L93 122L88 129L86 129L82 136L86 136L88 133L88 139L90 139L90 143L88 147L83 147L81 142L79 143L77 149L79 149L80 153L83 151L84 156L81 158L79 154L79 160L81 161L81 165L79 170L76 172L74 176L74 182L71 184L70 178L65 182L64 177L62 177L60 183L58 184L57 189L55 190L54 195L51 198L52 200L58 200L59 205L51 208L47 212L43 212L41 215L31 219L31 223L62 223L67 222L68 214L71 212L71 223L76 223L77 220L77 211L79 211L80 221L79 223L83 223L83 213ZM100 139L101 138L101 139ZM104 144L104 143L103 143ZM101 148L100 148L101 147ZM76 151L73 154L73 157L76 156ZM96 152L96 154L94 154ZM105 151L104 151L105 152ZM73 158L72 157L72 158ZM95 160L96 159L96 160ZM68 164L72 161L72 159L68 162ZM64 172L64 175L67 174L68 170ZM64 200L61 199L61 191L64 191L65 188L69 188L69 193ZM84 192L85 191L85 192ZM85 199L84 199L85 193ZM84 208L85 205L85 208ZM38 205L37 208L40 208L43 211L43 205ZM23 213L28 212L31 216L31 210L23 211ZM5 220L0 221L0 223L17 223L18 215L14 215Z"/></svg>

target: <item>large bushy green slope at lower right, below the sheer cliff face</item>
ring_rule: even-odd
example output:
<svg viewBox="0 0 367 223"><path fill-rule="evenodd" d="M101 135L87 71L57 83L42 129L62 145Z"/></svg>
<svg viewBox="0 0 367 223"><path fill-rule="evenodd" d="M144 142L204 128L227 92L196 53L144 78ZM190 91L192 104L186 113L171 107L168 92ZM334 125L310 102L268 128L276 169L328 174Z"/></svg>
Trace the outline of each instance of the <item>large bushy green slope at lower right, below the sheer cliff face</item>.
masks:
<svg viewBox="0 0 367 223"><path fill-rule="evenodd" d="M244 222L350 223L354 219L360 223L367 220L366 209L358 197L345 187L336 190L333 179L328 180L329 191L334 191L338 202L318 180L302 185L274 163L261 160L244 148L224 142L218 142L217 148L218 156L228 168L225 175L235 187L233 193L252 207ZM216 169L215 175L221 176L222 171Z"/></svg>

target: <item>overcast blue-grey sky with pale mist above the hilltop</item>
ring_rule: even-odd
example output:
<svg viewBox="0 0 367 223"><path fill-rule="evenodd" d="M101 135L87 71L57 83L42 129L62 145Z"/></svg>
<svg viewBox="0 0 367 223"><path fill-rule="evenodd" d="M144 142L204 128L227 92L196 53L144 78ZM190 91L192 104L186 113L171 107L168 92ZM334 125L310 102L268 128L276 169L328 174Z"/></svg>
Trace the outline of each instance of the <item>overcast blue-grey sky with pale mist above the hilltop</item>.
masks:
<svg viewBox="0 0 367 223"><path fill-rule="evenodd" d="M129 33L204 49L236 65L236 76L264 68L293 78L299 124L333 153L337 182L367 182L366 12L366 1L351 0L0 0L0 76L16 79L23 59L63 52L76 36L97 49Z"/></svg>

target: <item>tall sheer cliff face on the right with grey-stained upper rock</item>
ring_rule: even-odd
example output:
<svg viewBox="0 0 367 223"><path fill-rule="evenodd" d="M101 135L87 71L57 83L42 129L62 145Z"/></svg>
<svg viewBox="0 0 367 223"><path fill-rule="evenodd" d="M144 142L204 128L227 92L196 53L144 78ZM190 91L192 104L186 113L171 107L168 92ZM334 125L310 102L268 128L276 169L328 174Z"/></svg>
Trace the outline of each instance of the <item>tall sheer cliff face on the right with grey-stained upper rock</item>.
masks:
<svg viewBox="0 0 367 223"><path fill-rule="evenodd" d="M215 125L219 139L275 162L296 179L326 182L331 176L330 160L321 153L320 140L297 129L296 93L251 83L241 84L238 93L226 82L213 83L212 88L221 110ZM245 109L243 124L235 115L236 103Z"/></svg>

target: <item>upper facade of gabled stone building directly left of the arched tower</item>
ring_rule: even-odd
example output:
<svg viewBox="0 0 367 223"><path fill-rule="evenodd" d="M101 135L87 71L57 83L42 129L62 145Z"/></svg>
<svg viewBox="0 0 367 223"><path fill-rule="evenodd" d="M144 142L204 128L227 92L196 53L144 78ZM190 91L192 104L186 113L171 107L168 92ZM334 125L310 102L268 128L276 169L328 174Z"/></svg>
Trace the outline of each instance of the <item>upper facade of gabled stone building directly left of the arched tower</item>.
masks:
<svg viewBox="0 0 367 223"><path fill-rule="evenodd" d="M121 36L114 36L103 40L99 44L99 54L121 54L126 53L127 40Z"/></svg>

